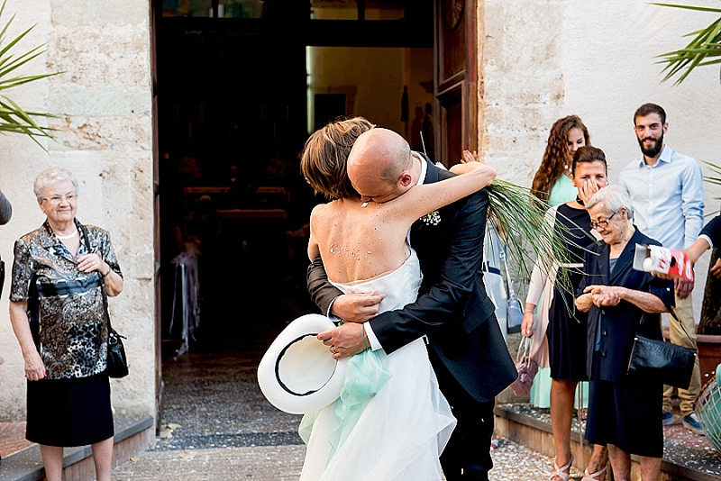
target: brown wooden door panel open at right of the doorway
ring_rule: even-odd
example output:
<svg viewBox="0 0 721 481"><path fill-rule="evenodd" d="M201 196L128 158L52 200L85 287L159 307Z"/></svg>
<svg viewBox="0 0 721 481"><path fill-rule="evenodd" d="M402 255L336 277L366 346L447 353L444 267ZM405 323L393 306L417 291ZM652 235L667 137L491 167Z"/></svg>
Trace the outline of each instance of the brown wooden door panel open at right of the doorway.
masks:
<svg viewBox="0 0 721 481"><path fill-rule="evenodd" d="M447 167L479 148L478 2L435 0L435 160Z"/></svg>

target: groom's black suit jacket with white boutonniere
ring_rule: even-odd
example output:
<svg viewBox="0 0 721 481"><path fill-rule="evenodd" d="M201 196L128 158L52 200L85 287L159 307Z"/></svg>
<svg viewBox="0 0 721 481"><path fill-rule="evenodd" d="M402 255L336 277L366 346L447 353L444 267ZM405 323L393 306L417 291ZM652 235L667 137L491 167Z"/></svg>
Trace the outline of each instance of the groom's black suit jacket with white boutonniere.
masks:
<svg viewBox="0 0 721 481"><path fill-rule="evenodd" d="M424 184L452 176L426 163ZM369 321L387 354L426 335L452 376L481 402L493 400L517 377L480 269L487 208L484 189L439 209L436 225L416 221L411 245L424 275L418 298ZM320 258L308 268L306 280L315 304L328 313L342 292L327 281Z"/></svg>

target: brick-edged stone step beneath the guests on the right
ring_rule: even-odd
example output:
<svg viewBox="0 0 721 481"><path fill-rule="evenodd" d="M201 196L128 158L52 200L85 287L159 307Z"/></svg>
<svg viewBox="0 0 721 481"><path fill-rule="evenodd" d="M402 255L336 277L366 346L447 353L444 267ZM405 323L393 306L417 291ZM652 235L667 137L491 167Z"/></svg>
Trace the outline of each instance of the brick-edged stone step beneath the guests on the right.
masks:
<svg viewBox="0 0 721 481"><path fill-rule="evenodd" d="M677 424L664 428L662 481L721 481L721 453L714 450L705 437L682 428L678 423L680 415L676 414L674 417ZM574 418L570 436L573 467L583 471L586 468L584 463L590 458L591 449L584 440L581 451L578 429L578 420ZM523 444L550 458L555 456L551 417L547 409L536 409L525 403L498 404L496 435ZM638 457L632 455L631 460L631 478L640 479ZM612 479L610 469L607 472L607 479Z"/></svg>

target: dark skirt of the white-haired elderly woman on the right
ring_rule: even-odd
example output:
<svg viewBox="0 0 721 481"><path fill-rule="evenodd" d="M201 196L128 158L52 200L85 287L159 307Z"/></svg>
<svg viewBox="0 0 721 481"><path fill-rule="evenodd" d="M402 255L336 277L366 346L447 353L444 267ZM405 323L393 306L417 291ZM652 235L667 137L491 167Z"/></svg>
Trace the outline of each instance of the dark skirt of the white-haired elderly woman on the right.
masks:
<svg viewBox="0 0 721 481"><path fill-rule="evenodd" d="M663 385L637 376L603 381L599 364L597 351L589 383L586 439L592 444L612 444L629 454L662 458Z"/></svg>

